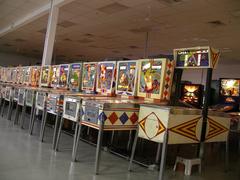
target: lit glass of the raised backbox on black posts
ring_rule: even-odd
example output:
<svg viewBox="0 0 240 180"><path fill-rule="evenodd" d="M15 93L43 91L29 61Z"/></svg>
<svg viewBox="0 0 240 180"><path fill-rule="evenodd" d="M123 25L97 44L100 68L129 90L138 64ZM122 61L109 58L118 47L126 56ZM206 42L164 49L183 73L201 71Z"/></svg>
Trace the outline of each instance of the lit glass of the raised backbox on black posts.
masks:
<svg viewBox="0 0 240 180"><path fill-rule="evenodd" d="M179 50L176 55L177 67L210 67L208 48Z"/></svg>

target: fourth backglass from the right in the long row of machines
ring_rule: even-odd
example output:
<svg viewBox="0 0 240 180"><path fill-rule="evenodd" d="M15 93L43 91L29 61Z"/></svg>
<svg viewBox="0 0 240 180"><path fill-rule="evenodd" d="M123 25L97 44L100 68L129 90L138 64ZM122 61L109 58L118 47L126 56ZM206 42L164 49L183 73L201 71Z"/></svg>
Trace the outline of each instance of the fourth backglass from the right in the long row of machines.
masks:
<svg viewBox="0 0 240 180"><path fill-rule="evenodd" d="M95 92L97 78L97 63L83 63L82 90L85 92Z"/></svg>

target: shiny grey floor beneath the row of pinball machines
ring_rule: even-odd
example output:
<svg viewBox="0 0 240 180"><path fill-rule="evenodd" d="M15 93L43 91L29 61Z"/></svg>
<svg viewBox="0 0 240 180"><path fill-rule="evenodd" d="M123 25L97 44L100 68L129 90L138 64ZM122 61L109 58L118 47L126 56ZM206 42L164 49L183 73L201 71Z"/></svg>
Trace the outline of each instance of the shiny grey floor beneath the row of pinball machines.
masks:
<svg viewBox="0 0 240 180"><path fill-rule="evenodd" d="M27 127L27 125L25 125ZM157 180L158 172L134 165L134 172L127 171L128 161L108 152L102 153L100 175L94 176L95 147L81 142L79 162L71 162L72 137L63 134L60 152L53 152L51 146L53 130L46 129L45 141L39 138L39 124L33 136L26 129L13 126L12 121L0 118L0 179L1 180ZM237 152L231 153L230 171L224 172L223 152L213 148L206 157L203 173L194 172L184 176L183 172L166 169L165 179L171 180L239 180L240 158ZM171 153L171 152L168 152Z"/></svg>

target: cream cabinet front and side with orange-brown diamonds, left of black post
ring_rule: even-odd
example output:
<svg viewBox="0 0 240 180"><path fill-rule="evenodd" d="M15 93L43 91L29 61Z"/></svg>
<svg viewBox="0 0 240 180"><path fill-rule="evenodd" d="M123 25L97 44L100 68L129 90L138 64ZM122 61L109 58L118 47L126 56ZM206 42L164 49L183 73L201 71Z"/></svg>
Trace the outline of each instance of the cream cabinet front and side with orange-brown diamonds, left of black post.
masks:
<svg viewBox="0 0 240 180"><path fill-rule="evenodd" d="M142 105L139 112L139 137L162 143L168 130L168 144L199 143L201 138L201 111L190 109L172 113L170 108Z"/></svg>

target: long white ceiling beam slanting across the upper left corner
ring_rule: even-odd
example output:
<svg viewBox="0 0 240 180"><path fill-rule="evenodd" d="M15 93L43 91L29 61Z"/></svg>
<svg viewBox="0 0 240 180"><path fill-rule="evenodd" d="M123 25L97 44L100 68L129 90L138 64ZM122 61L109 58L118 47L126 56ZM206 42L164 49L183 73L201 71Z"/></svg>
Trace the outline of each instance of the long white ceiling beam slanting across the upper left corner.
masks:
<svg viewBox="0 0 240 180"><path fill-rule="evenodd" d="M54 0L54 6L58 6L61 7L65 4L68 4L70 2L72 2L73 0ZM2 29L0 29L0 37L3 37L4 35L6 35L9 32L12 32L26 24L29 24L33 21L35 21L36 19L48 14L50 12L50 8L51 8L51 2L49 2L48 4L40 7L39 9L27 14L26 16L24 16L23 18L13 22L10 26L4 27Z"/></svg>

